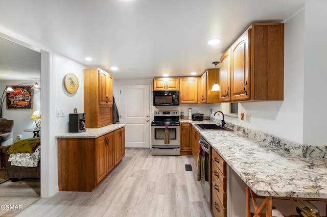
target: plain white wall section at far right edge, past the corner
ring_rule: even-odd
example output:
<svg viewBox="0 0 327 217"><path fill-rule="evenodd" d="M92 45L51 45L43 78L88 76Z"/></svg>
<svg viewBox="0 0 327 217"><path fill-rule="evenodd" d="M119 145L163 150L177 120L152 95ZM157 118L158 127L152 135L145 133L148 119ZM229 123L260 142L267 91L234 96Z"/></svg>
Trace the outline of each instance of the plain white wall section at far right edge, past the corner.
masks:
<svg viewBox="0 0 327 217"><path fill-rule="evenodd" d="M327 1L311 0L305 11L303 143L326 145Z"/></svg>

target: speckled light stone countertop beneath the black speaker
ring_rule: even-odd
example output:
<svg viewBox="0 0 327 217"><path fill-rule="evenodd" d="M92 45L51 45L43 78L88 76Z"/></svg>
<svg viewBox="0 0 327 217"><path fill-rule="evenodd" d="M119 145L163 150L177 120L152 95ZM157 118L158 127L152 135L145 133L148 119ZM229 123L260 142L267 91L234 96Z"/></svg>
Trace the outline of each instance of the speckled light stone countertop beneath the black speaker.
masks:
<svg viewBox="0 0 327 217"><path fill-rule="evenodd" d="M124 127L126 124L110 124L100 128L86 128L85 132L66 132L56 135L56 138L98 138L101 135Z"/></svg>

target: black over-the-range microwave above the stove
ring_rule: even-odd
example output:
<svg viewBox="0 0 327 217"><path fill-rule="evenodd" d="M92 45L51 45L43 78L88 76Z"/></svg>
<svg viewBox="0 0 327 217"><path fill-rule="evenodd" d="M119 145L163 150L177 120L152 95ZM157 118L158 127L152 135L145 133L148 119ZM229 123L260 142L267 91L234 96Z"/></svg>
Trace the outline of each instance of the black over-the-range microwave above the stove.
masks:
<svg viewBox="0 0 327 217"><path fill-rule="evenodd" d="M153 91L153 105L179 105L179 91Z"/></svg>

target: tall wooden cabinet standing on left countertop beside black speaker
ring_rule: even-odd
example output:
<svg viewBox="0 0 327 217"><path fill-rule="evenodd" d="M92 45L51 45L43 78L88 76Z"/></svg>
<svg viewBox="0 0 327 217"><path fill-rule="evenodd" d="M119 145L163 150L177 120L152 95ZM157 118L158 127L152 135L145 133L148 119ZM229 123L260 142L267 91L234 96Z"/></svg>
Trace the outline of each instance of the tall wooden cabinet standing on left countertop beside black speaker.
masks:
<svg viewBox="0 0 327 217"><path fill-rule="evenodd" d="M112 124L112 75L101 69L84 69L85 127Z"/></svg>

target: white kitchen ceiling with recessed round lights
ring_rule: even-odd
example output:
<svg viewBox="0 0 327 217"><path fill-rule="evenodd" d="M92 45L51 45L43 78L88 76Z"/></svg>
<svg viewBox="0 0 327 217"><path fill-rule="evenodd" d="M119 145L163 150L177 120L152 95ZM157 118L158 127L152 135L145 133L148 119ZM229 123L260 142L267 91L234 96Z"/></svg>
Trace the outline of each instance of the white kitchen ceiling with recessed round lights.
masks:
<svg viewBox="0 0 327 217"><path fill-rule="evenodd" d="M3 0L0 27L118 79L200 75L251 23L283 21L306 1Z"/></svg>

